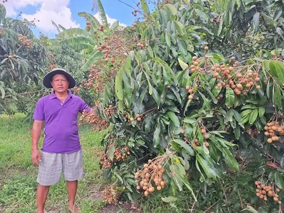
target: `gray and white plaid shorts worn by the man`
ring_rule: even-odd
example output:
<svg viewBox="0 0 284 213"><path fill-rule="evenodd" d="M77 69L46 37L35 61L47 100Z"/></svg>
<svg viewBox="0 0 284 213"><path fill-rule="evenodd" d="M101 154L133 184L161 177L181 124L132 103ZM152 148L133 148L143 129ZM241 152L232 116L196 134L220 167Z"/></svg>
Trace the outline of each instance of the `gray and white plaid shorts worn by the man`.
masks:
<svg viewBox="0 0 284 213"><path fill-rule="evenodd" d="M51 186L60 182L61 174L68 181L84 177L82 151L74 153L41 152L41 162L38 173L38 183Z"/></svg>

